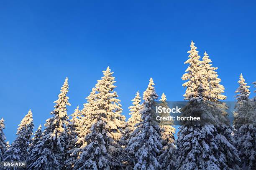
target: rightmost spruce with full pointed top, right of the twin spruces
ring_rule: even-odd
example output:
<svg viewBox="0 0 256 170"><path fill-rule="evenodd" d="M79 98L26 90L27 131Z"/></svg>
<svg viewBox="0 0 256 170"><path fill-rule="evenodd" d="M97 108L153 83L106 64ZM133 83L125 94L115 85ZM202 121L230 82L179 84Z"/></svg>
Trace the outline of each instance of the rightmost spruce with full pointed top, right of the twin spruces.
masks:
<svg viewBox="0 0 256 170"><path fill-rule="evenodd" d="M243 76L238 81L239 92L235 105L234 121L235 128L234 138L236 140L236 148L241 158L241 168L243 170L253 170L256 167L256 102L250 100L249 86L246 85Z"/></svg>

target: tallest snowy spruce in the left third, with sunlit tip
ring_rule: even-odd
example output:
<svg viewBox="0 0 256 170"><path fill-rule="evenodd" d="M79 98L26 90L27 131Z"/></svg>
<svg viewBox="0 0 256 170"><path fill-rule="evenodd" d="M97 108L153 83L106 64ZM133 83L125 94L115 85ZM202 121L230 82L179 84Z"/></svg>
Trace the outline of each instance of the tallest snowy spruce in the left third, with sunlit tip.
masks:
<svg viewBox="0 0 256 170"><path fill-rule="evenodd" d="M46 120L44 135L37 145L33 146L28 170L61 170L64 166L65 150L67 148L67 105L69 97L68 78L61 87L59 99L54 103L53 117Z"/></svg>

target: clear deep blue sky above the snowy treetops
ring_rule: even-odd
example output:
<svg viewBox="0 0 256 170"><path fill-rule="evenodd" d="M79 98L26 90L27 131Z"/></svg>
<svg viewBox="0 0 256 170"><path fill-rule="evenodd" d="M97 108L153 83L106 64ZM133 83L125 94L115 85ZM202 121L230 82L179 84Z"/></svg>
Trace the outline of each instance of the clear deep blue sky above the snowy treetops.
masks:
<svg viewBox="0 0 256 170"><path fill-rule="evenodd" d="M183 100L191 40L219 67L225 95L234 100L240 73L249 85L256 80L255 9L250 0L1 1L0 117L7 140L30 108L35 129L44 125L65 77L68 113L82 107L108 66L124 115L150 77L159 96Z"/></svg>

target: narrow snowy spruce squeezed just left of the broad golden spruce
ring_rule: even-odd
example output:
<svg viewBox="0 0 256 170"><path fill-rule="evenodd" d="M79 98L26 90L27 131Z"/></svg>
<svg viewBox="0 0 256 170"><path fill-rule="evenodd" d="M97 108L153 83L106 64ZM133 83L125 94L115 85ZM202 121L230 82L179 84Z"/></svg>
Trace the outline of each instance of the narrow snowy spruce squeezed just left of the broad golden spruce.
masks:
<svg viewBox="0 0 256 170"><path fill-rule="evenodd" d="M78 148L76 145L77 136L79 133L78 125L80 124L81 111L79 110L79 106L74 110L74 113L71 115L71 119L69 120L69 124L67 125L67 133L68 133L68 145L67 145L67 154L65 160L66 170L72 170L74 167L74 163L78 158Z"/></svg>

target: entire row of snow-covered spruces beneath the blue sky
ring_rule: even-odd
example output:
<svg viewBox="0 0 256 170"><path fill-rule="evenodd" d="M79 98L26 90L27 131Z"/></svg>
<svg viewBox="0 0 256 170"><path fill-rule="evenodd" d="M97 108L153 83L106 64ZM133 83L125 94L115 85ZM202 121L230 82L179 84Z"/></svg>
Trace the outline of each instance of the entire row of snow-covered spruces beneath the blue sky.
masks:
<svg viewBox="0 0 256 170"><path fill-rule="evenodd" d="M31 110L21 120L17 138L5 143L3 118L0 120L0 161L26 161L28 170L254 170L256 168L256 104L240 75L236 90L235 120L228 122L226 106L220 100L225 88L218 67L205 52L200 60L192 41L188 51L184 114L203 112L207 125L182 125L178 138L170 124L153 119L158 99L150 78L143 96L136 92L125 122L115 91L115 77L108 67L86 97L87 102L71 115L68 78L61 87L54 110L33 133ZM256 84L256 82L253 82ZM254 91L255 92L255 91ZM142 98L142 100L141 100ZM168 107L166 95L160 105ZM201 103L207 103L207 106ZM214 112L212 112L214 110ZM13 169L13 168L6 168ZM17 169L17 168L16 168ZM24 169L24 168L23 168Z"/></svg>

